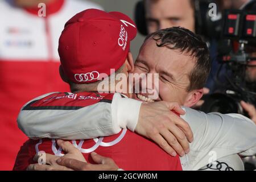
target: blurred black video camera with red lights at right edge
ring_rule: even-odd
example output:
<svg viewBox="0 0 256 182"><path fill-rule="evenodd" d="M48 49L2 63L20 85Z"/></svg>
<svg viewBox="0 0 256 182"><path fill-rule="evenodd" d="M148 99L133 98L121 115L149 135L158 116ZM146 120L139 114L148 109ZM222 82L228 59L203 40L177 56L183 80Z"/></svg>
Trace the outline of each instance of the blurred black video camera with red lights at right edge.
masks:
<svg viewBox="0 0 256 182"><path fill-rule="evenodd" d="M216 82L221 86L216 93L204 96L205 102L200 110L205 113L247 115L240 101L256 103L256 85L246 80L246 69L253 67L250 61L256 60L256 57L250 56L256 52L256 11L226 10L220 42L218 60L226 67L226 82L219 78L221 66L216 77Z"/></svg>

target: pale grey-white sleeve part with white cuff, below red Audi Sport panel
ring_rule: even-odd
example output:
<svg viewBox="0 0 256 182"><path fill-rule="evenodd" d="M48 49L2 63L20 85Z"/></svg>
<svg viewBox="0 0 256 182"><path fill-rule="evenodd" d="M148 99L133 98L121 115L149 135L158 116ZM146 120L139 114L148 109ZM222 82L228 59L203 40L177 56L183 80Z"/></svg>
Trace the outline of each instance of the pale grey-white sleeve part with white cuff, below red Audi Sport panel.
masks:
<svg viewBox="0 0 256 182"><path fill-rule="evenodd" d="M117 134L126 126L134 131L142 103L116 93L110 102L97 102L80 109L28 107L50 94L35 98L20 110L18 126L29 138L90 139Z"/></svg>

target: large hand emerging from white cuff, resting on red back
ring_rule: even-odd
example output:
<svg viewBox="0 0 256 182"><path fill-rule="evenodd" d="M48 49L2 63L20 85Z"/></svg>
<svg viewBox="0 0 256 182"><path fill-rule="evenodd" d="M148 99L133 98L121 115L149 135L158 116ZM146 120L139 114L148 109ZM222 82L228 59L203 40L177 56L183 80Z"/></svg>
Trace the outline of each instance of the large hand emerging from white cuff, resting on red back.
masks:
<svg viewBox="0 0 256 182"><path fill-rule="evenodd" d="M168 154L183 156L189 152L193 133L188 123L174 112L185 114L176 102L142 104L135 131L154 140Z"/></svg>

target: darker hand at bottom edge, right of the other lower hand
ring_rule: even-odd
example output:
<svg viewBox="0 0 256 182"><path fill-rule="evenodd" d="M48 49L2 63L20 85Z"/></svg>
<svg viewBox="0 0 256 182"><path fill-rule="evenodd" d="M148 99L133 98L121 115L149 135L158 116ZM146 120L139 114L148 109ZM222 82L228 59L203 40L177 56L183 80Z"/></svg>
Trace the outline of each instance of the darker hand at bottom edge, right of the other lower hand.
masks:
<svg viewBox="0 0 256 182"><path fill-rule="evenodd" d="M104 156L96 154L96 152L92 152L90 155L97 164L89 164L81 162L80 160L69 159L65 156L58 159L57 163L76 171L117 171L118 166L113 159L105 158Z"/></svg>

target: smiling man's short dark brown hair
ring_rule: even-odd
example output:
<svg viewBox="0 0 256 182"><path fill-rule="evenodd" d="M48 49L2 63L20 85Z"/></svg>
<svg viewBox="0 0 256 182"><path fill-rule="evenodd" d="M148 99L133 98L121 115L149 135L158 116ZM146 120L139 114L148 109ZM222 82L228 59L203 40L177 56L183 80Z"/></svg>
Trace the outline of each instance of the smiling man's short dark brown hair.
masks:
<svg viewBox="0 0 256 182"><path fill-rule="evenodd" d="M145 41L152 38L158 47L167 47L188 53L195 59L195 67L188 75L190 85L187 91L201 89L209 76L211 62L209 49L204 40L186 28L172 27L148 35ZM182 61L182 60L180 60Z"/></svg>

